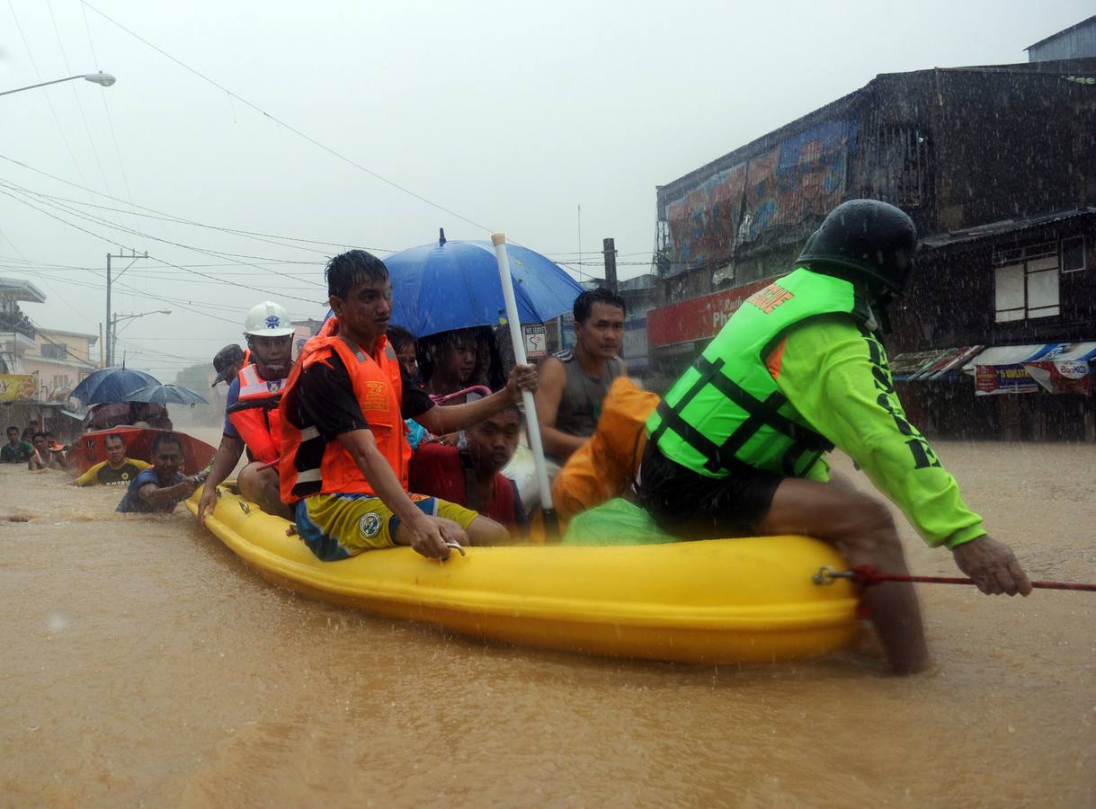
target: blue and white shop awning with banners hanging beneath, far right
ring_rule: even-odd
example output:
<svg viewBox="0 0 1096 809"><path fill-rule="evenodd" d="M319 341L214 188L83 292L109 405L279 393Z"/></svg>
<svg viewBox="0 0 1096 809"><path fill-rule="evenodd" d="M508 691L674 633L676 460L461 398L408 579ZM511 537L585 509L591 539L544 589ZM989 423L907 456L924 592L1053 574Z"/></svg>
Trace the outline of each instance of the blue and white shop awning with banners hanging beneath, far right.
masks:
<svg viewBox="0 0 1096 809"><path fill-rule="evenodd" d="M963 365L974 375L975 396L1088 394L1096 342L995 345Z"/></svg>

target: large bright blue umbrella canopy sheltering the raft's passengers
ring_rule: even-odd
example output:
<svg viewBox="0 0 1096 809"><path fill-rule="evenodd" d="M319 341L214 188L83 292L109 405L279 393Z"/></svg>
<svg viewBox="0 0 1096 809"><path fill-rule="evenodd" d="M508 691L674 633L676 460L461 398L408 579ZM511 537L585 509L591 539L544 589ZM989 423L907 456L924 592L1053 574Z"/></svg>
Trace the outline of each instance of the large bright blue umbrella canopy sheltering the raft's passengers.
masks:
<svg viewBox="0 0 1096 809"><path fill-rule="evenodd" d="M543 323L571 311L582 293L556 262L506 244L517 315ZM505 318L494 247L489 241L446 241L410 248L385 259L392 280L392 318L415 337L450 329L498 326Z"/></svg>

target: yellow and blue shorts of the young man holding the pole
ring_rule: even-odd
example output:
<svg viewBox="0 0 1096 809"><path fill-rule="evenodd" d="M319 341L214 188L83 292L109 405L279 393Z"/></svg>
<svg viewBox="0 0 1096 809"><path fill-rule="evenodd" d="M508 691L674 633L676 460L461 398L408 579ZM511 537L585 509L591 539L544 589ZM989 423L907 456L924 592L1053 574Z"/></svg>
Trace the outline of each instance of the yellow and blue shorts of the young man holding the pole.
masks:
<svg viewBox="0 0 1096 809"><path fill-rule="evenodd" d="M467 528L479 513L447 500L411 494L423 514L452 520ZM370 548L396 545L400 519L372 494L312 494L295 508L297 533L323 561L338 561Z"/></svg>

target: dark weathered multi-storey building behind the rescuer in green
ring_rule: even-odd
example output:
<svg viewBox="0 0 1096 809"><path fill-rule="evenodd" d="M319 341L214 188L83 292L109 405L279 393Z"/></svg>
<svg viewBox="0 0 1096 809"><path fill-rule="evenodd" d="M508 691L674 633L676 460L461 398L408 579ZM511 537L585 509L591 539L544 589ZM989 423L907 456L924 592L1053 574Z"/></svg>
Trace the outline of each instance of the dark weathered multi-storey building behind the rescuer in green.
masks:
<svg viewBox="0 0 1096 809"><path fill-rule="evenodd" d="M1065 357L1071 373L1087 363L1074 344L1096 340L1094 167L1096 58L878 76L658 189L653 365L676 376L750 294L794 267L829 210L870 197L906 210L922 237L888 344L915 420L948 434L1092 435L1087 372L1081 392L975 397L986 363L972 361L1015 349L989 355L986 388L1021 354L1036 371L1036 356ZM948 367L923 373L937 365ZM951 415L934 420L941 410Z"/></svg>

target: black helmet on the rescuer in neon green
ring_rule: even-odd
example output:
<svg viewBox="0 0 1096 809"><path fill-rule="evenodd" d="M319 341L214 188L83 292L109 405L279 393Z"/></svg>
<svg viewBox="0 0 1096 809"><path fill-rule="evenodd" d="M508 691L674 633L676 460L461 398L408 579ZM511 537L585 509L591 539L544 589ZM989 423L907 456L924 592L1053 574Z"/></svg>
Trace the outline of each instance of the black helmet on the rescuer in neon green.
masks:
<svg viewBox="0 0 1096 809"><path fill-rule="evenodd" d="M798 263L817 273L861 281L876 293L901 294L916 250L917 229L901 208L878 200L849 200L811 233Z"/></svg>

